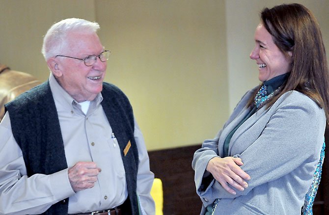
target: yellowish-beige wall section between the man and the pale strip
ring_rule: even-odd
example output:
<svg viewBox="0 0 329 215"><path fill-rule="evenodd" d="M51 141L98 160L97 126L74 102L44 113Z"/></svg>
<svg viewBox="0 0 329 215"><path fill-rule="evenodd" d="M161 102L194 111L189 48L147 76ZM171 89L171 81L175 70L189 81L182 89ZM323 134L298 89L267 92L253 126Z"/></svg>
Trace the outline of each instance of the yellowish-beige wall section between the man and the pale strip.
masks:
<svg viewBox="0 0 329 215"><path fill-rule="evenodd" d="M129 96L148 149L214 137L228 113L224 1L96 2L107 81Z"/></svg>

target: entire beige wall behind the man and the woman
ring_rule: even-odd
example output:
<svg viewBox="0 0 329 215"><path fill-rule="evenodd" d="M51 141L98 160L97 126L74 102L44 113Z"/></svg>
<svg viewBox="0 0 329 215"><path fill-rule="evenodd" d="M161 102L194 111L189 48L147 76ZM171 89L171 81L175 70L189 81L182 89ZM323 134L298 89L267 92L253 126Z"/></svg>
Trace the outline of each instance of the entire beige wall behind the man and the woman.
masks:
<svg viewBox="0 0 329 215"><path fill-rule="evenodd" d="M106 81L130 98L149 150L212 138L258 83L248 55L264 6L282 0L0 0L0 62L45 81L42 36L56 21L97 21ZM297 0L322 26L328 0Z"/></svg>

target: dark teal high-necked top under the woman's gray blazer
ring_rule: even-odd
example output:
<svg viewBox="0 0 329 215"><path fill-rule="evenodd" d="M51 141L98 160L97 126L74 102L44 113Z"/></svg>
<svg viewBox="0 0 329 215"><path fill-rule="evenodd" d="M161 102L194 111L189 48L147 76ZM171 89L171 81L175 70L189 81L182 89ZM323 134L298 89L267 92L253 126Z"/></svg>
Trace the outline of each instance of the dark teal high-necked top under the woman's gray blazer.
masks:
<svg viewBox="0 0 329 215"><path fill-rule="evenodd" d="M285 73L283 75L276 76L268 81L264 81L263 84L267 86L267 95L271 94L276 90L279 86L283 84L284 81L286 81L289 77L289 73ZM266 96L267 96L266 95ZM228 156L228 147L230 145L231 138L233 134L238 130L238 128L250 117L252 114L254 114L257 111L257 107L254 106L250 112L246 115L245 118L241 120L240 123L227 135L224 145L223 145L223 152L224 152L224 157Z"/></svg>

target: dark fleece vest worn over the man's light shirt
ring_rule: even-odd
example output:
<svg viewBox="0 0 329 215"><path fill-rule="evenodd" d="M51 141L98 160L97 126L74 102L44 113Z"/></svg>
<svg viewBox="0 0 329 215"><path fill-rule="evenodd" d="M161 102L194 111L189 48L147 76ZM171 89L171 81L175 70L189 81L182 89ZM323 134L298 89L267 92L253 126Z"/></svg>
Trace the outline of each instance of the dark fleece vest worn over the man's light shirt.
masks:
<svg viewBox="0 0 329 215"><path fill-rule="evenodd" d="M139 214L137 200L138 151L134 138L133 109L124 93L110 83L103 83L102 107L119 143L126 172L132 214ZM9 112L15 140L21 147L27 175L52 174L67 168L63 138L49 82L32 88L5 105ZM124 155L130 140L131 147ZM65 215L68 198L54 204L44 215Z"/></svg>

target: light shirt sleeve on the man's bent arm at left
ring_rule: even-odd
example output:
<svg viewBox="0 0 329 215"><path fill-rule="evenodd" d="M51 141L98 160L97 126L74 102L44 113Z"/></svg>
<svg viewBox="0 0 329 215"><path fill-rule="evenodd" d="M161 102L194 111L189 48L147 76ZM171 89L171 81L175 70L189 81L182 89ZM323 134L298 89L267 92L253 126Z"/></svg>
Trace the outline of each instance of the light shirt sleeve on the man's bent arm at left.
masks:
<svg viewBox="0 0 329 215"><path fill-rule="evenodd" d="M73 194L67 169L27 177L22 150L13 137L7 112L0 123L0 214L42 214Z"/></svg>

